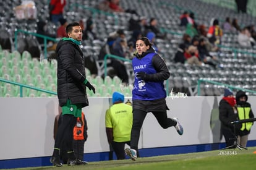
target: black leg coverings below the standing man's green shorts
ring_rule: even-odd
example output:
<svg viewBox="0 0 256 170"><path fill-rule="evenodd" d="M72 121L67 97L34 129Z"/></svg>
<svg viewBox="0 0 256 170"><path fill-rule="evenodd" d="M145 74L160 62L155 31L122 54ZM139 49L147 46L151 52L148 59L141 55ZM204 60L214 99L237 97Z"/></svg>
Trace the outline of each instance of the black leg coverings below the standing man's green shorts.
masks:
<svg viewBox="0 0 256 170"><path fill-rule="evenodd" d="M64 114L62 122L58 127L54 148L65 146L64 150L73 151L73 129L77 122L77 117L72 114ZM55 153L56 154L56 153ZM54 155L57 156L57 155Z"/></svg>

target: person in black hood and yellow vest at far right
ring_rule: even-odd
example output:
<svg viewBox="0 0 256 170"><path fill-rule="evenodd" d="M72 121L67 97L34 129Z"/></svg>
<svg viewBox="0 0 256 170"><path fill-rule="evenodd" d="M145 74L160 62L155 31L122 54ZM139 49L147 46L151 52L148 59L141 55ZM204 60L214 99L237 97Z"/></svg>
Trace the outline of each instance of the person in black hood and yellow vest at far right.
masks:
<svg viewBox="0 0 256 170"><path fill-rule="evenodd" d="M250 103L248 103L247 100L248 96L245 94L244 91L237 91L236 103L239 120L254 118L254 113L252 113L252 108L250 107ZM253 122L242 123L241 129L237 132L237 142L242 147L246 147L247 145L247 140L252 125Z"/></svg>

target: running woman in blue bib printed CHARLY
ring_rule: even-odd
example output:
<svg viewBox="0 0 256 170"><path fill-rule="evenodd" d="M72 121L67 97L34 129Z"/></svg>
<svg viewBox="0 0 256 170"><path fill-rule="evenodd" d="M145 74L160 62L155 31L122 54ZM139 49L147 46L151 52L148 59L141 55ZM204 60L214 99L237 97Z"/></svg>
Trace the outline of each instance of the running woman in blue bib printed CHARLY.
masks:
<svg viewBox="0 0 256 170"><path fill-rule="evenodd" d="M137 53L132 59L135 75L134 89L132 90L133 124L130 148L125 150L126 154L134 161L137 159L140 129L147 113L153 113L163 129L176 127L178 134L183 134L183 127L178 119L168 118L166 114L168 106L166 105L163 81L169 78L168 67L163 58L155 53L147 37L137 40L136 49Z"/></svg>

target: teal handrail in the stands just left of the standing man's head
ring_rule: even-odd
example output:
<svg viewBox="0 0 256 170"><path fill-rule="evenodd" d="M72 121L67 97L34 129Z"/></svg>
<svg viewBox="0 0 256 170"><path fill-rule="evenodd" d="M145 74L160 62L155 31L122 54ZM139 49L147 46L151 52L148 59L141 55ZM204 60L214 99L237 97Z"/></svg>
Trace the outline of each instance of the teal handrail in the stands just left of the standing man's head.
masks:
<svg viewBox="0 0 256 170"><path fill-rule="evenodd" d="M58 41L56 40L55 38L51 38L49 36L45 36L45 35L41 35L41 34L38 34L38 33L33 33L33 32L27 32L25 30L15 30L14 32L14 45L15 45L15 50L18 49L18 33L21 32L21 33L25 33L25 34L28 34L28 35L33 35L33 36L38 36L40 38L43 38L43 42L44 42L44 55L45 55L45 59L47 59L47 40L51 40L51 41Z"/></svg>

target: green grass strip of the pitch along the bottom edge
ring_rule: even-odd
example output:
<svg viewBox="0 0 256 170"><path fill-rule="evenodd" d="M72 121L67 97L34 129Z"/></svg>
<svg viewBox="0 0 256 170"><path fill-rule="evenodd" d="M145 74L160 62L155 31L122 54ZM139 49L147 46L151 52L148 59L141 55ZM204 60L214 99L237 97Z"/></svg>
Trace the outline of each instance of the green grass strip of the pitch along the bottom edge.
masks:
<svg viewBox="0 0 256 170"><path fill-rule="evenodd" d="M43 166L38 168L20 168L28 169L243 169L250 170L256 167L256 147L250 147L248 150L239 150L238 148L230 150L215 150L199 153L187 153L179 155L153 156L147 158L138 158L136 161L131 159L114 161L90 162L81 166L67 166L61 168L54 166Z"/></svg>

